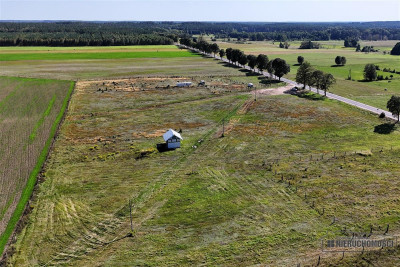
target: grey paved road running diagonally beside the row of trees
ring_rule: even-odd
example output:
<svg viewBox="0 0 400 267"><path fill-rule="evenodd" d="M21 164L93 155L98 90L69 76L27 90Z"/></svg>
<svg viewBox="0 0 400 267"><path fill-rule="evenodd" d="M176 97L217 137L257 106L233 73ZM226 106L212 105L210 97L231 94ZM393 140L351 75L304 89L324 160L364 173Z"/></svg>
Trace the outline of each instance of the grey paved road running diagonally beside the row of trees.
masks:
<svg viewBox="0 0 400 267"><path fill-rule="evenodd" d="M184 46L184 45L182 45L182 46L187 48L187 49L190 49L190 50L196 51L198 53L201 53L203 55L214 57L216 59L219 59L219 60L222 60L224 62L229 63L229 61L226 58L220 58L217 55L214 56L214 55L211 55L211 54L206 54L206 53L201 52L198 49L194 49L194 48L187 47L187 46ZM248 70L251 70L249 66L242 66L242 65L238 65L238 66L240 66L242 68L245 68L245 69L248 69ZM259 70L257 70L257 72L261 73ZM262 72L262 74L264 76L266 76L266 77L270 76L269 73L267 73L267 72ZM272 78L278 79L277 77L274 77L274 75L272 75ZM289 79L286 79L286 78L281 78L281 81L286 82L288 84L292 84L293 86L297 86L299 88L303 86L302 84L296 83L295 81L292 81L292 80L289 80ZM313 91L315 93L318 93L317 89L314 88L314 87L311 87L311 91ZM319 90L319 94L320 95L324 95L324 92L322 90ZM379 114L381 114L383 112L383 113L385 113L387 118L390 118L390 119L393 119L393 120L397 121L397 116L393 116L392 113L389 112L389 111L386 111L386 110L383 110L383 109L379 109L377 107L373 107L373 106L370 106L370 105L367 105L367 104L364 104L364 103L361 103L361 102L358 102L358 101L354 101L354 100L351 100L351 99L346 98L346 97L335 95L335 94L332 94L332 93L329 93L329 92L326 93L326 96L328 98L330 98L330 99L335 99L335 100L341 101L343 103L346 103L346 104L349 104L349 105L352 105L352 106L355 106L355 107L370 111L370 112L372 112L374 114L378 114L379 115Z"/></svg>

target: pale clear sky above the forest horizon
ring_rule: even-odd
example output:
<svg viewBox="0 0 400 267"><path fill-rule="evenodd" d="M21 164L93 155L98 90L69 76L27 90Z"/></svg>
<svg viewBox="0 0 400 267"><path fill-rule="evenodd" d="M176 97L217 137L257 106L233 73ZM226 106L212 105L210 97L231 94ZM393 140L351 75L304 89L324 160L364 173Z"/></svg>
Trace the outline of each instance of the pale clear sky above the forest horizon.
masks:
<svg viewBox="0 0 400 267"><path fill-rule="evenodd" d="M400 0L0 0L0 20L400 21Z"/></svg>

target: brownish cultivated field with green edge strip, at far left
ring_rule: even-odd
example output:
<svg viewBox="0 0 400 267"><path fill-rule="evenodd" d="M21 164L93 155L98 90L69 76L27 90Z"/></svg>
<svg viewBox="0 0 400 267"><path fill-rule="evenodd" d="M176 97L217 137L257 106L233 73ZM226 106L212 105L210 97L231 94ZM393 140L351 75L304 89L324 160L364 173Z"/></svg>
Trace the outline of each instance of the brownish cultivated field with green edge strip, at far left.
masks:
<svg viewBox="0 0 400 267"><path fill-rule="evenodd" d="M73 86L0 78L0 253L30 199Z"/></svg>

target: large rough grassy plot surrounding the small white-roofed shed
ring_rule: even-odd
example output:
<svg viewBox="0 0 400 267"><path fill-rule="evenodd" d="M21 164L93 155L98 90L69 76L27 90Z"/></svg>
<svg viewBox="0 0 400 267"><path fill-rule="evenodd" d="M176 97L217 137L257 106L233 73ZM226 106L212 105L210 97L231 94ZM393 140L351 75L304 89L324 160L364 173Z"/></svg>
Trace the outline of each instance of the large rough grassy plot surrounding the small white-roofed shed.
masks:
<svg viewBox="0 0 400 267"><path fill-rule="evenodd" d="M340 260L320 238L399 234L400 131L336 101L253 101L247 78L79 82L9 264L398 263L387 250ZM160 153L169 128L182 148Z"/></svg>

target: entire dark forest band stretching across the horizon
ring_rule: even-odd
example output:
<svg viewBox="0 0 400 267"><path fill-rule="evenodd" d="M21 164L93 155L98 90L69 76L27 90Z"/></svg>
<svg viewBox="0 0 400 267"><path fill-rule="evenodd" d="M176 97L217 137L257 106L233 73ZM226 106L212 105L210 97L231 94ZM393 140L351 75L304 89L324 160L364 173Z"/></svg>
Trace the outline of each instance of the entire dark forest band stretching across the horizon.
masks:
<svg viewBox="0 0 400 267"><path fill-rule="evenodd" d="M168 45L210 34L238 40L399 40L400 22L0 22L0 46Z"/></svg>

